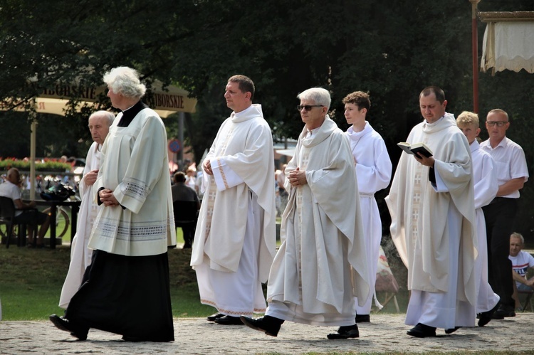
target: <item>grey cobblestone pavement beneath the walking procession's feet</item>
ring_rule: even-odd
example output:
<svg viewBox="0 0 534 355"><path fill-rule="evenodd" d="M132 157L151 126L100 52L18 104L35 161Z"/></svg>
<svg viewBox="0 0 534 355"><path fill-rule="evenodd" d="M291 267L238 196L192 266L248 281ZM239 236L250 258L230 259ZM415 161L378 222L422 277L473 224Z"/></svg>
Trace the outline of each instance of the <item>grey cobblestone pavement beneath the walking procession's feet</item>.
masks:
<svg viewBox="0 0 534 355"><path fill-rule="evenodd" d="M328 340L333 327L286 322L278 337L268 337L241 326L221 326L205 319L174 319L175 341L169 343L122 341L117 334L91 329L87 341L78 341L51 322L0 322L0 354L305 354L315 352L387 353L403 351L517 351L534 353L534 314L493 320L486 327L462 328L438 337L407 336L404 314L372 314L360 324L360 338Z"/></svg>

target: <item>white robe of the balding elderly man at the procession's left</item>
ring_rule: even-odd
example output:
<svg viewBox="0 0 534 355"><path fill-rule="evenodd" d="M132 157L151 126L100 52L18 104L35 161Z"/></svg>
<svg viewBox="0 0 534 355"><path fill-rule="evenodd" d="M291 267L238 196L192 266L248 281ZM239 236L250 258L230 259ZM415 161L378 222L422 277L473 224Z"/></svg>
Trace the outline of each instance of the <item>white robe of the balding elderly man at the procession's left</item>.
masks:
<svg viewBox="0 0 534 355"><path fill-rule="evenodd" d="M82 282L83 272L91 263L93 250L88 248L91 228L98 213L98 204L93 200L93 185L85 183L85 176L89 171L100 168L100 149L102 146L93 142L85 159L83 178L80 180L80 196L82 202L78 212L76 234L70 245L70 264L68 265L67 277L61 289L59 307L67 309L70 298L78 291Z"/></svg>

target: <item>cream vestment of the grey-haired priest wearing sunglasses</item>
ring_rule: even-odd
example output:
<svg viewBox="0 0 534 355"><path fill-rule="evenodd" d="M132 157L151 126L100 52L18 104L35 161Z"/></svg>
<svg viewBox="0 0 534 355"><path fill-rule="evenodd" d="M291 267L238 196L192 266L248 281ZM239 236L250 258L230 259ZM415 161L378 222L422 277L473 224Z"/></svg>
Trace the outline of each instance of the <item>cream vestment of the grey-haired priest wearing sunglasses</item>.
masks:
<svg viewBox="0 0 534 355"><path fill-rule="evenodd" d="M307 184L290 186L283 243L267 287L266 314L303 324L355 324L354 297L370 293L354 158L347 136L327 116L311 137L300 134L286 176L300 168Z"/></svg>

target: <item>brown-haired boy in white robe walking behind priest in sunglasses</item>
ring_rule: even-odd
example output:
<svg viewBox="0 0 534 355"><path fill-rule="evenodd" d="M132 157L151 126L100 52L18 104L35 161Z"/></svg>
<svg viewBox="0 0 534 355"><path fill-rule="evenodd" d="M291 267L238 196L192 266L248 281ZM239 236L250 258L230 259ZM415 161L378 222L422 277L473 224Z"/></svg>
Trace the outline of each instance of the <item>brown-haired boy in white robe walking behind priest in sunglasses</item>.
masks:
<svg viewBox="0 0 534 355"><path fill-rule="evenodd" d="M352 124L347 129L350 150L356 164L358 191L360 191L360 208L362 211L363 235L365 235L365 250L367 253L367 270L369 271L370 295L363 307L356 304L356 322L370 322L372 299L382 308L376 298L375 282L382 240L382 220L378 211L375 194L387 188L391 180L392 164L387 154L386 144L380 134L371 127L365 119L371 107L369 95L366 92L355 91L343 99L345 104L345 119Z"/></svg>

